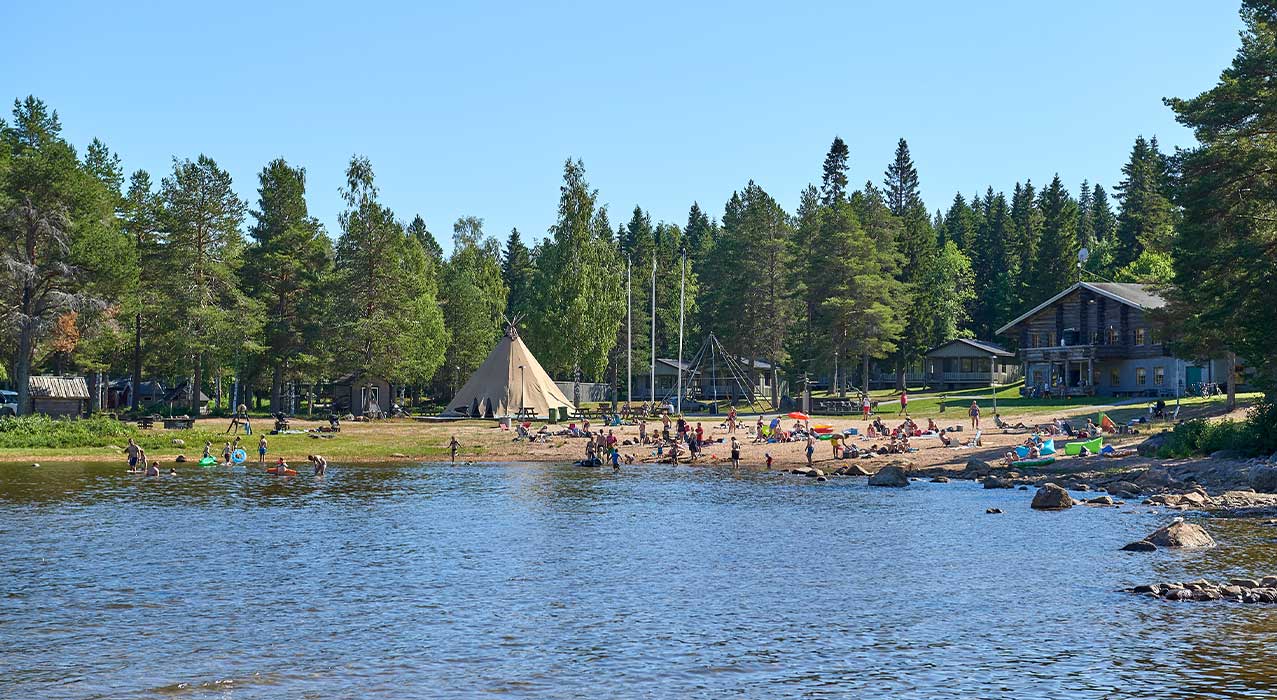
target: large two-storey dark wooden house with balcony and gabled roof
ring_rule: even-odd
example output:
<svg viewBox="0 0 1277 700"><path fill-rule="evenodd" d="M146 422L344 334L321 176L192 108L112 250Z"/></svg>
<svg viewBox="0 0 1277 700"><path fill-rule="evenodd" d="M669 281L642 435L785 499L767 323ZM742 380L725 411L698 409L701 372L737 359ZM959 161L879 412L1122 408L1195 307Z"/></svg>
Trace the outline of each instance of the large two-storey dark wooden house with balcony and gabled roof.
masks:
<svg viewBox="0 0 1277 700"><path fill-rule="evenodd" d="M1024 386L1051 395L1176 396L1227 381L1222 360L1171 355L1148 312L1166 305L1149 286L1078 282L997 330L1019 344Z"/></svg>

